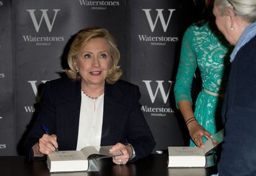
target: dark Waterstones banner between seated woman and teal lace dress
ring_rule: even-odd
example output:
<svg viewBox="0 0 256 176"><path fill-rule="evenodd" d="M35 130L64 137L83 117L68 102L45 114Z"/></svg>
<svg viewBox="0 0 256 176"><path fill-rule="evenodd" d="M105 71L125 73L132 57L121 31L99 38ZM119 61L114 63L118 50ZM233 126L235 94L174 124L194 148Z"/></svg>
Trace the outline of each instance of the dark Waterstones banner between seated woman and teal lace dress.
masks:
<svg viewBox="0 0 256 176"><path fill-rule="evenodd" d="M140 86L142 111L156 150L184 145L174 113L175 61L179 59L186 12L181 1L129 1L130 80Z"/></svg>

